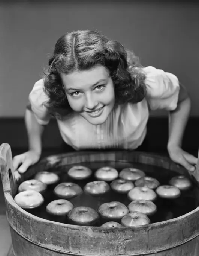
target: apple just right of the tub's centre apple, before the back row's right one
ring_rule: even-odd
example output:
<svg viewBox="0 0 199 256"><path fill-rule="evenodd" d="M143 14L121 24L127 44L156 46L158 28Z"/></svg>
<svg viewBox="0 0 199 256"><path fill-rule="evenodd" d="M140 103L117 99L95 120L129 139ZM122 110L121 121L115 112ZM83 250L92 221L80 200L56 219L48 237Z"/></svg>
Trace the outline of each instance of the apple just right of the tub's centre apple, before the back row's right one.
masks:
<svg viewBox="0 0 199 256"><path fill-rule="evenodd" d="M128 193L134 187L134 184L132 181L123 180L123 179L114 180L111 182L110 185L112 190L121 194Z"/></svg>

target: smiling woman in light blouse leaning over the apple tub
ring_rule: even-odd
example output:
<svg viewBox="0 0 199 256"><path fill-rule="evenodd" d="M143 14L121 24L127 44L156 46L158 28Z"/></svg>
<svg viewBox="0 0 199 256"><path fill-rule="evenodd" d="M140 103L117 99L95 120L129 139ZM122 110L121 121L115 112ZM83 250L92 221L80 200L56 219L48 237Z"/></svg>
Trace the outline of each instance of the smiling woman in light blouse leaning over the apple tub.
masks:
<svg viewBox="0 0 199 256"><path fill-rule="evenodd" d="M19 172L36 163L43 127L55 116L64 142L76 150L133 150L144 141L151 110L169 111L168 152L172 160L194 170L197 159L181 149L190 98L178 78L143 67L130 50L97 31L61 36L49 68L29 95L25 121L29 150L14 158Z"/></svg>

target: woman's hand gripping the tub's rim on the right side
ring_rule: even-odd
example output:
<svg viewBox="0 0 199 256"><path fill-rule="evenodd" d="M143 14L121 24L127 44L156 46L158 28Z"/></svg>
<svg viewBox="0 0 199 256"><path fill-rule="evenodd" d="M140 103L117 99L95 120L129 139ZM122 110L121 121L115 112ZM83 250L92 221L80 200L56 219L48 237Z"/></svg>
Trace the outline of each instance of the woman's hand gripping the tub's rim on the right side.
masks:
<svg viewBox="0 0 199 256"><path fill-rule="evenodd" d="M168 149L168 152L171 160L175 163L184 166L188 171L195 171L195 165L197 164L197 158L195 156L187 153L179 146L172 146L172 148Z"/></svg>

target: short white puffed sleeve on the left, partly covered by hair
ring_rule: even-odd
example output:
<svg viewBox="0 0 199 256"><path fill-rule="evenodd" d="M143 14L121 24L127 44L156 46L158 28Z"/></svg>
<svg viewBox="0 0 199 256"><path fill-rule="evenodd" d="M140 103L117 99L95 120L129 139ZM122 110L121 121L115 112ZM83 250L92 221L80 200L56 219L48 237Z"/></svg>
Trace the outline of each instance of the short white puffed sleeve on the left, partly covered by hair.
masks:
<svg viewBox="0 0 199 256"><path fill-rule="evenodd" d="M31 110L33 111L38 123L40 125L47 125L50 121L50 114L48 109L45 107L44 103L48 102L48 96L43 90L43 79L37 81L32 91L29 94L29 102Z"/></svg>

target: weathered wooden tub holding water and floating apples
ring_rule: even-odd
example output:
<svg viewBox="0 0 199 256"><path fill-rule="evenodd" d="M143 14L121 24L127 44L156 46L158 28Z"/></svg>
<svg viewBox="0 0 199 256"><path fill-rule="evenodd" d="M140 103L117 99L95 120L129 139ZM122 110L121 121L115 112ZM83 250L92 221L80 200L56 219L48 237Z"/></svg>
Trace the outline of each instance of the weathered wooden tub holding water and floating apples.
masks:
<svg viewBox="0 0 199 256"><path fill-rule="evenodd" d="M94 161L142 163L176 171L187 171L168 158L133 151L73 152L46 157L25 174L12 169L8 144L0 148L0 172L7 207L7 220L15 256L150 255L198 256L199 207L168 221L137 227L88 227L62 224L34 216L13 200L18 185L51 167ZM190 177L191 178L191 177Z"/></svg>

